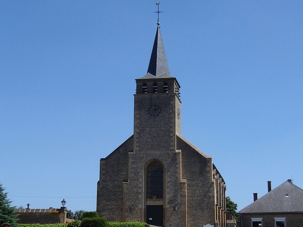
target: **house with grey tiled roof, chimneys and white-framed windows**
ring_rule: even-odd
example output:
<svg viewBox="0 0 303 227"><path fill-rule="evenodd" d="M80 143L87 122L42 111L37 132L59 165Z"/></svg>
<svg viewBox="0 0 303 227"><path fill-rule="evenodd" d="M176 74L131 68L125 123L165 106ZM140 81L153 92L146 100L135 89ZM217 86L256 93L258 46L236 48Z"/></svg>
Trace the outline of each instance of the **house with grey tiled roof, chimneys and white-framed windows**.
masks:
<svg viewBox="0 0 303 227"><path fill-rule="evenodd" d="M271 190L268 181L268 193L241 209L238 226L242 227L302 227L303 226L303 190L295 186L290 179Z"/></svg>

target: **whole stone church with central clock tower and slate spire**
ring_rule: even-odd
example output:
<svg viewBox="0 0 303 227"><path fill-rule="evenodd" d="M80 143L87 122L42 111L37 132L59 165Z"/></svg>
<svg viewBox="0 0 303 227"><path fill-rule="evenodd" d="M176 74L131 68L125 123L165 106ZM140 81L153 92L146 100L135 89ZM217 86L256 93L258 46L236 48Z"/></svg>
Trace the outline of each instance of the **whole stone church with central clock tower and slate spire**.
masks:
<svg viewBox="0 0 303 227"><path fill-rule="evenodd" d="M235 226L212 157L181 136L180 85L157 24L147 74L135 79L134 134L100 160L97 212L109 222Z"/></svg>

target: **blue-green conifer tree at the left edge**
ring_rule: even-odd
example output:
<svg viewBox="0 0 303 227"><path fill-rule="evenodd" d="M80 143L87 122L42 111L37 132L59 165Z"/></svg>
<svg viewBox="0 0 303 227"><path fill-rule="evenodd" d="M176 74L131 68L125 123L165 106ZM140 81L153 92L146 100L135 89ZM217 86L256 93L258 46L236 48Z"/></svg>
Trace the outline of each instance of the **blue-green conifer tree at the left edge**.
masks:
<svg viewBox="0 0 303 227"><path fill-rule="evenodd" d="M15 207L10 206L12 201L7 199L7 192L4 190L0 183L0 227L17 227L18 215L14 215Z"/></svg>

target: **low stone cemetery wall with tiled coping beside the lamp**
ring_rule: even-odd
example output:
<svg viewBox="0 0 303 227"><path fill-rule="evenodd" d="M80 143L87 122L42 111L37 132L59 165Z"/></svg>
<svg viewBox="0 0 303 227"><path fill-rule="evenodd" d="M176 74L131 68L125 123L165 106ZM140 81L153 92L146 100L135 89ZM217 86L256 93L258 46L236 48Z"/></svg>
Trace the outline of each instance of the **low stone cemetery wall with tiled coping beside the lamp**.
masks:
<svg viewBox="0 0 303 227"><path fill-rule="evenodd" d="M16 209L20 224L55 224L70 221L66 207L60 209Z"/></svg>

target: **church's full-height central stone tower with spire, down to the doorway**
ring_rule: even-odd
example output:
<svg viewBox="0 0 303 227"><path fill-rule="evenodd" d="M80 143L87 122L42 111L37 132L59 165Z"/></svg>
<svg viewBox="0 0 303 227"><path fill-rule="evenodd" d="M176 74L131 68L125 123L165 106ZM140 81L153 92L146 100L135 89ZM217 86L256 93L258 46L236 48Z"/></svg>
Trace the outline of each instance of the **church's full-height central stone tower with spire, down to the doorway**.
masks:
<svg viewBox="0 0 303 227"><path fill-rule="evenodd" d="M133 151L128 154L128 183L123 196L126 220L157 226L172 223L172 219L168 221L172 201L185 194L177 151L177 135L181 135L179 90L177 79L169 72L158 26L147 74L136 79ZM185 220L185 212L173 215Z"/></svg>

